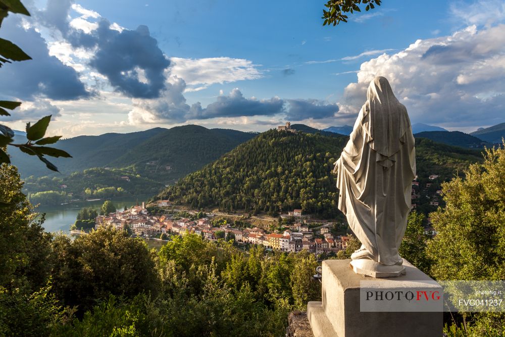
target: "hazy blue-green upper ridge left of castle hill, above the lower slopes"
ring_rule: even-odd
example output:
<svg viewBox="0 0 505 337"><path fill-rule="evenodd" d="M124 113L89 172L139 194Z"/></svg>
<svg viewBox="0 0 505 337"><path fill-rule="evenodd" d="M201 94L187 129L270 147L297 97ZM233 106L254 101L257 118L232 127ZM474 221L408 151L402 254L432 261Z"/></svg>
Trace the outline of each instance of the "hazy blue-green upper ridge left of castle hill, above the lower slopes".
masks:
<svg viewBox="0 0 505 337"><path fill-rule="evenodd" d="M55 147L73 158L52 158L64 175L94 167L130 167L158 181L173 182L216 160L256 134L198 125L154 128L131 133L106 133L60 140ZM22 177L53 176L37 158L10 149ZM59 176L59 175L58 175Z"/></svg>

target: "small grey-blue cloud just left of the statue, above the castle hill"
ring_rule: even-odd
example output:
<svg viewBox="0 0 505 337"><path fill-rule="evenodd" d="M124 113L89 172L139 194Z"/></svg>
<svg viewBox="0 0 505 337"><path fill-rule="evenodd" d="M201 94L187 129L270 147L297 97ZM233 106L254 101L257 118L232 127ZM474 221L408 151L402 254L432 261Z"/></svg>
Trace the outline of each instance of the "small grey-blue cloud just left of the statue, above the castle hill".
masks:
<svg viewBox="0 0 505 337"><path fill-rule="evenodd" d="M333 117L338 112L336 103L319 100L286 100L289 104L286 118L294 121Z"/></svg>

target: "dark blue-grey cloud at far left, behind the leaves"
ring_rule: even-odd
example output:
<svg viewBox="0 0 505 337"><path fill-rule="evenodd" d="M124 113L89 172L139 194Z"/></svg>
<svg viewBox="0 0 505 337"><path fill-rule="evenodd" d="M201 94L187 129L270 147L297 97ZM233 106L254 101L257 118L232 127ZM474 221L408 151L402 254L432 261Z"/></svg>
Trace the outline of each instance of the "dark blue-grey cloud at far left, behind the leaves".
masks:
<svg viewBox="0 0 505 337"><path fill-rule="evenodd" d="M54 100L89 97L75 69L49 55L45 40L33 27L23 29L18 16L9 16L2 27L4 38L17 43L33 60L2 68L0 85L5 94L31 100L40 94Z"/></svg>

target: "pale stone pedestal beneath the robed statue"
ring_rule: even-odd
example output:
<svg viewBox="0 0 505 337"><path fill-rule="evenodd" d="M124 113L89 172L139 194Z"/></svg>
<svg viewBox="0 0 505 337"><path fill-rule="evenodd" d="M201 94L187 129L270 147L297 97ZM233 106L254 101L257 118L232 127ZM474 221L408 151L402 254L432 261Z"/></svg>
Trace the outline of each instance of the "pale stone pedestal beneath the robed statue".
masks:
<svg viewBox="0 0 505 337"><path fill-rule="evenodd" d="M356 274L350 266L350 260L325 260L323 261L322 273L322 302L309 302L307 316L316 337L441 337L442 336L442 303L434 301L436 312L416 312L423 310L423 305L430 292L442 296L442 287L428 277L425 273L404 260L405 275L394 278L373 278ZM395 310L397 302L375 302L376 309L370 310L360 302L364 290L361 288L362 281L374 290L406 294L412 292L415 298L407 301L408 305L414 305L409 311L391 312ZM361 294L360 294L361 291ZM438 292L438 293L437 293ZM421 293L421 299L415 301ZM410 294L410 293L409 293ZM443 299L443 296L441 297ZM427 298L429 302L431 298ZM387 301L386 301L387 302ZM405 302L405 299L404 299ZM412 302L412 303L411 303ZM433 302L433 301L432 301ZM368 302L367 302L368 303ZM391 307L390 304L393 306ZM430 303L431 305L431 303ZM388 307L389 312L384 311ZM430 310L433 310L431 305ZM363 310L362 310L363 309ZM368 311L366 311L368 310Z"/></svg>

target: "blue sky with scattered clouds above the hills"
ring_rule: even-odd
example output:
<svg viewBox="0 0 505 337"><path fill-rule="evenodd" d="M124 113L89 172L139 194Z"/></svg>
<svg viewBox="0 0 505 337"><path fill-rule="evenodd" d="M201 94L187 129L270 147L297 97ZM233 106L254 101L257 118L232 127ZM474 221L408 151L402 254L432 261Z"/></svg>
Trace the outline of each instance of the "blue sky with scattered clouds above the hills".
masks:
<svg viewBox="0 0 505 337"><path fill-rule="evenodd" d="M0 30L33 57L0 70L23 101L7 121L18 129L47 114L65 136L352 125L374 75L413 123L504 121L502 1L385 0L336 27L322 26L324 1L24 3L32 17Z"/></svg>

